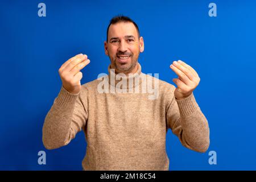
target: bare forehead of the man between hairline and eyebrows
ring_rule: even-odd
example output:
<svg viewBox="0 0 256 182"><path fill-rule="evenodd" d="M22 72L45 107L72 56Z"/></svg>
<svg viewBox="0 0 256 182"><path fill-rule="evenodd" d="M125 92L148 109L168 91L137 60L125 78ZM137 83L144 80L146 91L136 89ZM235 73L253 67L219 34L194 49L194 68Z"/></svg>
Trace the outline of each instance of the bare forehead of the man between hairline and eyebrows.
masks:
<svg viewBox="0 0 256 182"><path fill-rule="evenodd" d="M135 38L138 38L137 28L131 22L119 22L116 24L111 24L108 34L109 38L122 38L126 35L133 35Z"/></svg>

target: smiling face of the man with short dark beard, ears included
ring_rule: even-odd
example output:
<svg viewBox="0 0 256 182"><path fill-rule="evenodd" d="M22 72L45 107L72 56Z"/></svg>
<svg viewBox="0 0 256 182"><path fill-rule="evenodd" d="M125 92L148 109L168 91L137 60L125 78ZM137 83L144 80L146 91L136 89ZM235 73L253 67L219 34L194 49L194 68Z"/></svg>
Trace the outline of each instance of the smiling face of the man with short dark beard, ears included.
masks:
<svg viewBox="0 0 256 182"><path fill-rule="evenodd" d="M143 38L138 38L137 28L131 22L111 24L108 43L104 42L105 53L111 61L111 68L117 73L134 73L139 53L144 51Z"/></svg>

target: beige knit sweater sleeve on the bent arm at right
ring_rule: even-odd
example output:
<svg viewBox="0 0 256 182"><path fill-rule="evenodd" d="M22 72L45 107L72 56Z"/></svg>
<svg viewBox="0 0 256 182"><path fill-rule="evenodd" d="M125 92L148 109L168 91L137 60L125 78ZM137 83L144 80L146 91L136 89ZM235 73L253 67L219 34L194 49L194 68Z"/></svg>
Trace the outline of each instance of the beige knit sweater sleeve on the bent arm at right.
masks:
<svg viewBox="0 0 256 182"><path fill-rule="evenodd" d="M175 86L173 86L175 89ZM193 93L184 100L176 100L174 89L169 93L167 105L167 126L183 146L205 152L209 147L209 126L207 118L200 110Z"/></svg>

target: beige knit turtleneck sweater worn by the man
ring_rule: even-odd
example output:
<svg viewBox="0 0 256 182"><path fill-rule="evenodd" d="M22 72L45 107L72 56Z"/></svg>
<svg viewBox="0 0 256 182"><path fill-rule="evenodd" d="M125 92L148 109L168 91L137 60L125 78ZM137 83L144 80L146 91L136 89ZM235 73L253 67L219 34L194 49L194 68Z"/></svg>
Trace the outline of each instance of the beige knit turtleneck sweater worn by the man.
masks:
<svg viewBox="0 0 256 182"><path fill-rule="evenodd" d="M139 65L137 74L129 76L127 82L138 76L150 77L141 73ZM127 84L127 90L141 88L141 80ZM168 170L166 134L171 129L183 146L207 151L208 122L193 93L176 100L175 86L159 80L159 96L150 100L150 93L99 93L100 82L82 85L77 95L61 87L44 121L47 149L67 145L83 130L87 142L82 160L85 170ZM117 83L109 85L117 88Z"/></svg>

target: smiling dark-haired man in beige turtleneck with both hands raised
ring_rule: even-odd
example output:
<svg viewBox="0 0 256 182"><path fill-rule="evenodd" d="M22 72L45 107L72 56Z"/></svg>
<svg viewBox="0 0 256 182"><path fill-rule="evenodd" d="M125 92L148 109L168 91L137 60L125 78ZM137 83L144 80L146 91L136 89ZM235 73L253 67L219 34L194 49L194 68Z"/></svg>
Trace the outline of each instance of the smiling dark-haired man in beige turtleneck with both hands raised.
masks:
<svg viewBox="0 0 256 182"><path fill-rule="evenodd" d="M100 79L81 85L80 70L90 62L86 55L76 55L61 65L63 86L44 122L44 146L65 146L83 130L87 142L82 160L85 170L168 170L168 129L183 146L207 151L208 122L193 96L200 81L196 71L183 61L174 61L171 69L178 76L175 88L141 72L138 57L143 51L137 24L126 16L114 17L105 42L111 64L109 75L103 78L112 90L126 91L143 89L143 79L133 82L138 77L157 80L155 99L148 99L149 93L99 92ZM113 74L121 79L110 81ZM121 80L127 84L119 84Z"/></svg>

